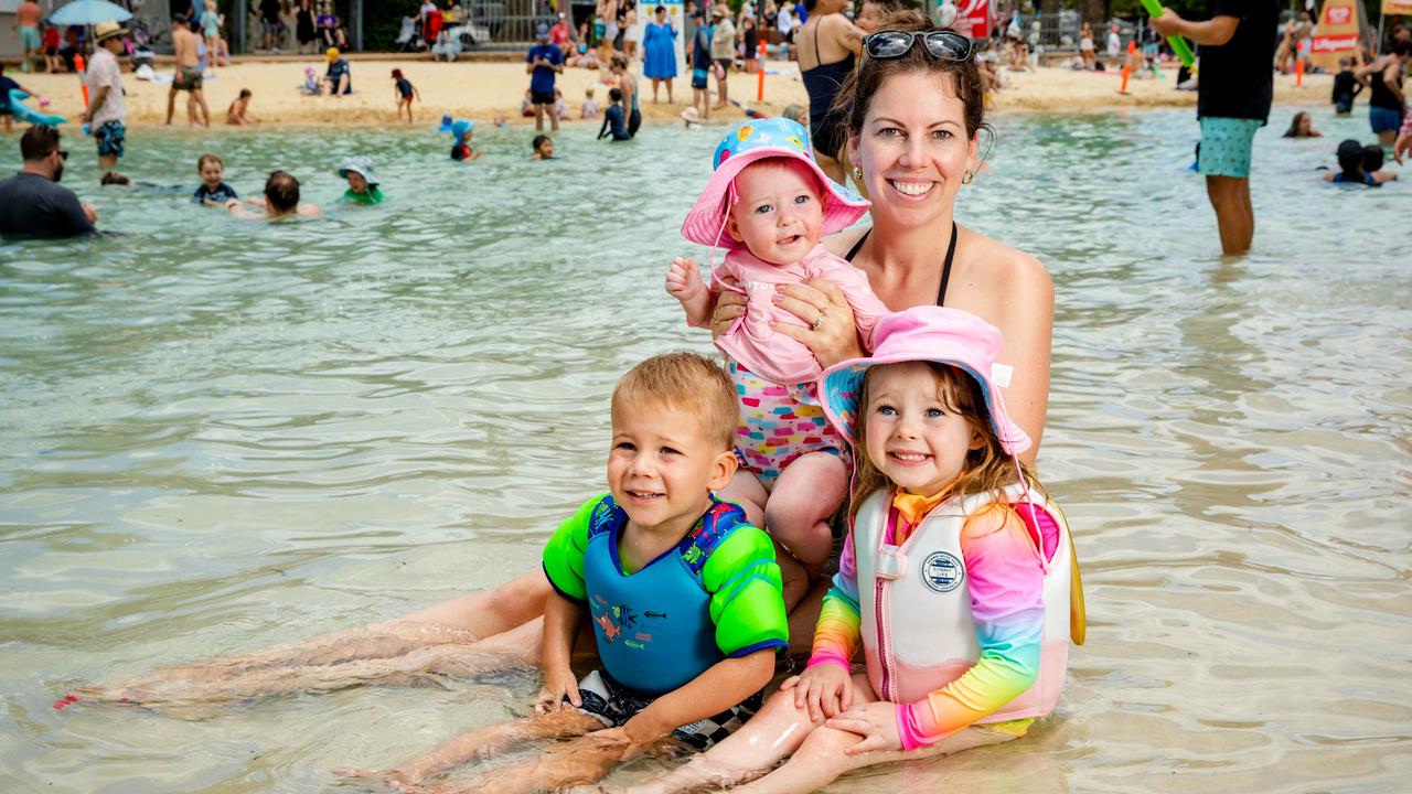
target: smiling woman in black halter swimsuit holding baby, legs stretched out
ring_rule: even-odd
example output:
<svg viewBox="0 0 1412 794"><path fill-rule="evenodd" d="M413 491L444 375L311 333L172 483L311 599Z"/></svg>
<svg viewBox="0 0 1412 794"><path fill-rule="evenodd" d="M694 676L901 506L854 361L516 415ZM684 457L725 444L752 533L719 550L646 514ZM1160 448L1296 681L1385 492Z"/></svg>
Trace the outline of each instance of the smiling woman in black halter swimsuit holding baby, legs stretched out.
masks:
<svg viewBox="0 0 1412 794"><path fill-rule="evenodd" d="M935 28L916 11L907 11L888 18L882 30L936 34L943 28ZM1005 405L1034 441L1021 456L1034 465L1049 401L1053 285L1032 256L955 222L957 194L980 167L979 134L986 129L983 90L969 40L956 34L938 40L940 55L923 41L914 41L897 54L901 47L895 37L891 42L874 40L877 55L866 58L849 78L839 96L839 116L856 162L853 177L873 195L873 227L827 237L825 247L863 268L890 309L935 300L1000 328L1004 335L1000 360L1014 367L1004 389ZM614 72L620 68L626 72L626 61L614 59ZM779 305L809 325L777 324L777 332L808 345L825 367L861 355L853 312L836 285L815 281L781 292ZM724 292L712 315L712 332L729 329L743 314L744 300ZM808 651L826 588L825 581L791 615L795 650ZM394 622L234 660L155 671L124 685L78 695L150 702L151 689L143 684L155 681L165 687L164 698L175 691L188 698L223 699L247 697L251 691L408 682L431 672L466 675L507 661L534 664L548 593L548 581L535 571L493 591L433 605ZM172 689L174 677L202 682L182 689L178 681ZM217 682L205 682L212 678Z"/></svg>

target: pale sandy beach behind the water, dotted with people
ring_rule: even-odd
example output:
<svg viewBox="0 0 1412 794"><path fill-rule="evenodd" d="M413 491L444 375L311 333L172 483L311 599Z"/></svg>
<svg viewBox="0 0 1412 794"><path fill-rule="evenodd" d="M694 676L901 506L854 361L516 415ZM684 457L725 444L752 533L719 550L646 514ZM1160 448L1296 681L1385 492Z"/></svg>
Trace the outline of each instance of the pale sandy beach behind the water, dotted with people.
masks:
<svg viewBox="0 0 1412 794"><path fill-rule="evenodd" d="M400 68L421 92L422 103L417 105L418 123L435 122L442 114L490 120L496 114L510 116L511 123L527 123L520 117L520 102L530 85L524 65L505 62L436 64L429 61L353 61L352 96L302 96L297 90L304 81L306 65L323 72L323 62L309 58L306 62L237 62L217 69L215 79L206 82L206 102L210 106L212 123L220 124L226 107L249 88L254 92L250 116L265 126L381 126L395 124L395 103L391 69ZM750 100L767 114L778 113L789 103L808 103L803 83L799 81L794 62L770 62L765 76L765 102L754 102L755 75L736 73L730 81L730 96ZM171 73L171 66L161 68ZM1166 69L1165 79L1132 79L1128 93L1120 95L1117 72L1076 72L1072 69L1043 68L1036 72L1008 75L1010 88L993 97L993 110L1034 110L1052 113L1075 113L1096 110L1118 110L1124 107L1182 107L1195 106L1195 92L1175 90L1175 71ZM75 75L20 75L20 82L35 93L49 99L49 112L78 117L82 109L79 79ZM600 81L611 79L607 71L568 69L559 78L559 88L575 117L583 102L585 89L597 85L599 103L607 100L607 86ZM1275 78L1275 102L1285 105L1322 106L1329 102L1332 83L1329 75L1306 75L1303 88L1295 88L1293 78ZM145 82L131 73L123 76L127 89L128 124L161 124L167 110L167 83ZM686 79L674 83L675 105L666 103L665 86L661 103L652 103L651 82L640 78L642 86L641 109L644 120L676 122L678 113L686 107L690 89ZM743 119L740 109L713 114L713 123L734 123ZM185 123L185 96L178 97L175 122Z"/></svg>

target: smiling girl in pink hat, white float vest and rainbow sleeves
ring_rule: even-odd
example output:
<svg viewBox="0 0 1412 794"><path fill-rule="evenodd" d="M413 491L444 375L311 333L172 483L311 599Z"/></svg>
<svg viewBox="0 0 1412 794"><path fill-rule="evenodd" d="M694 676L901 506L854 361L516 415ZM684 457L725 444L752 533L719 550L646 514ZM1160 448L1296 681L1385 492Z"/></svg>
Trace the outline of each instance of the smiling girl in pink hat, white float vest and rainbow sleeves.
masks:
<svg viewBox="0 0 1412 794"><path fill-rule="evenodd" d="M651 790L729 784L792 754L746 790L812 791L850 769L1017 739L1053 709L1083 600L1063 514L1017 458L1029 438L998 389L1000 332L918 307L884 318L877 340L819 380L858 470L808 667ZM867 674L850 675L858 646Z"/></svg>

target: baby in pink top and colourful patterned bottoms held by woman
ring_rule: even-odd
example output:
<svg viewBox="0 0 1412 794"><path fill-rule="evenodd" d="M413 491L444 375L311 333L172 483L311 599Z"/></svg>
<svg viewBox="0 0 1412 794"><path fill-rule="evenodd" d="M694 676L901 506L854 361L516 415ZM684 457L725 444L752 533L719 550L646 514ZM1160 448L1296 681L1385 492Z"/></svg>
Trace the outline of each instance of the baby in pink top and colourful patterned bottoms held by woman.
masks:
<svg viewBox="0 0 1412 794"><path fill-rule="evenodd" d="M690 259L675 259L666 274L666 291L682 302L690 325L714 325L712 291L748 297L746 316L716 339L741 401L741 469L723 497L744 507L794 557L779 561L789 606L803 598L833 548L829 517L843 503L849 463L846 445L815 400L819 362L791 333L805 325L774 304L777 287L809 278L839 284L868 349L873 326L887 314L863 271L819 246L823 235L861 218L868 202L823 174L808 140L802 126L779 117L731 129L716 147L710 182L682 223L688 240L723 244L726 260L712 271L710 288Z"/></svg>

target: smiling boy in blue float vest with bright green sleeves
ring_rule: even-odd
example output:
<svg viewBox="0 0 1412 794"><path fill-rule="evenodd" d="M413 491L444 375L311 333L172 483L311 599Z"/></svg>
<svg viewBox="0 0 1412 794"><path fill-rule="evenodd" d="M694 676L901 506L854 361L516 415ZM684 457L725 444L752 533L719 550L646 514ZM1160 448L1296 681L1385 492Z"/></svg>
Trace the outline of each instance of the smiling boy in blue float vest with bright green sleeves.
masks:
<svg viewBox="0 0 1412 794"><path fill-rule="evenodd" d="M754 713L788 627L770 537L712 496L736 472L736 390L702 356L668 353L623 376L611 411L610 493L585 502L544 551L555 592L538 713L377 774L415 784L527 740L587 735L494 773L501 791L556 790L668 737L706 749ZM586 619L603 670L580 681L569 651Z"/></svg>

